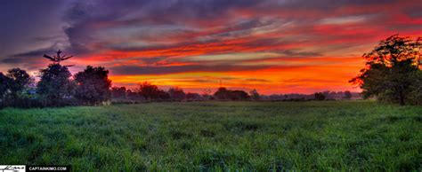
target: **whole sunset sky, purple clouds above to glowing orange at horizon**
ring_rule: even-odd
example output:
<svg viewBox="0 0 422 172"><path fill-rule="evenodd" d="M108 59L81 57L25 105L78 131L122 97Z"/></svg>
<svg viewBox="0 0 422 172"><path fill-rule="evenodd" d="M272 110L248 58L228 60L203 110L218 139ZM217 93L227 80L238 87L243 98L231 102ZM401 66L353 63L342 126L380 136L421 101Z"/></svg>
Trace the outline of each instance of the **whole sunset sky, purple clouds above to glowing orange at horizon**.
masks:
<svg viewBox="0 0 422 172"><path fill-rule="evenodd" d="M114 86L359 91L361 55L422 35L422 0L0 0L0 71L37 76L57 50Z"/></svg>

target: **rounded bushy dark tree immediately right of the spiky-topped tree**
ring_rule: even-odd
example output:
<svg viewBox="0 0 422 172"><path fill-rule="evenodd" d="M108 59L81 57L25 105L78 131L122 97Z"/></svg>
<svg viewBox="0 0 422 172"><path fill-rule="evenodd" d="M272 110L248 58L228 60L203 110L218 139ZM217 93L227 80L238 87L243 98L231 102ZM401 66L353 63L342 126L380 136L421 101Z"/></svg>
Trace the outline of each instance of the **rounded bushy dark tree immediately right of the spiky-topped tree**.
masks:
<svg viewBox="0 0 422 172"><path fill-rule="evenodd" d="M98 105L111 98L109 71L102 66L86 66L75 74L77 89L75 97L85 104Z"/></svg>

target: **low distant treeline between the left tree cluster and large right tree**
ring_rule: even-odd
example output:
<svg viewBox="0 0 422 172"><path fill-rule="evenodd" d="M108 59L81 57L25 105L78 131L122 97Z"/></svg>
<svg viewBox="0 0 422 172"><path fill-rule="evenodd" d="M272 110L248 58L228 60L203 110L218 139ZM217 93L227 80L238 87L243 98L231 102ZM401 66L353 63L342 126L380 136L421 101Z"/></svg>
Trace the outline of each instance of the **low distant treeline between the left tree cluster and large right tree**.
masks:
<svg viewBox="0 0 422 172"><path fill-rule="evenodd" d="M260 95L256 90L246 92L244 90L228 90L218 88L215 93L185 93L183 89L173 87L168 90L160 90L158 86L150 82L143 82L135 89L126 87L112 87L112 100L115 103L139 103L146 101L204 101L204 100L231 100L231 101L301 101L301 100L339 100L360 99L360 93L346 91L324 91L314 94L280 94Z"/></svg>

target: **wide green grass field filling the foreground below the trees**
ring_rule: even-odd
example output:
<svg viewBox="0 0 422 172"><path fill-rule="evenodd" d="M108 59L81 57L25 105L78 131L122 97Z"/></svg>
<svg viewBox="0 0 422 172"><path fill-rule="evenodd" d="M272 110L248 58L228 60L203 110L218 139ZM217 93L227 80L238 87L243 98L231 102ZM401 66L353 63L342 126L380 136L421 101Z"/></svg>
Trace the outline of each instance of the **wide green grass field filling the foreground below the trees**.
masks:
<svg viewBox="0 0 422 172"><path fill-rule="evenodd" d="M0 164L73 170L422 170L422 107L190 102L0 111Z"/></svg>

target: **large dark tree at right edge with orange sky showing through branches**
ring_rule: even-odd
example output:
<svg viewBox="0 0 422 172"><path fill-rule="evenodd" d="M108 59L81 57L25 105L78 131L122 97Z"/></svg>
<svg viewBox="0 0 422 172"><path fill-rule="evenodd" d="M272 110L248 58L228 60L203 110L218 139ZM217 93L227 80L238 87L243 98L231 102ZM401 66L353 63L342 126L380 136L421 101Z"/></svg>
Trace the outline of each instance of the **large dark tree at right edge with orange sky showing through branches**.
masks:
<svg viewBox="0 0 422 172"><path fill-rule="evenodd" d="M412 76L419 70L418 40L392 35L381 41L373 51L363 54L366 67L350 82L361 87L364 98L377 97L404 105L415 82Z"/></svg>

